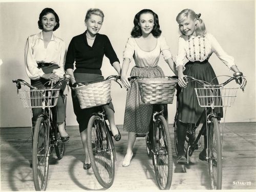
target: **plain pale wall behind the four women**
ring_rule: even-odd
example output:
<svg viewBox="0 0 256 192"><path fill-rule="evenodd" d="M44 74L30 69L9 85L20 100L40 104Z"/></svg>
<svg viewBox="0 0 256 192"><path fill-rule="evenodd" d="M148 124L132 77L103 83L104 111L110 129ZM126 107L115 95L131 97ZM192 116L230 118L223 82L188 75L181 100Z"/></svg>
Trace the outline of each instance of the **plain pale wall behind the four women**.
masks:
<svg viewBox="0 0 256 192"><path fill-rule="evenodd" d="M105 14L100 33L109 36L118 58L133 27L134 15L141 9L154 10L159 16L160 27L173 54L177 54L178 25L176 15L185 8L201 12L207 31L214 34L223 49L234 56L239 69L247 76L245 93L239 90L232 108L227 110L227 122L255 121L255 31L254 1L80 1L80 2L26 2L0 3L0 59L1 70L1 122L0 127L30 126L29 110L24 109L16 96L12 79L29 81L24 67L26 38L38 33L37 20L42 9L53 8L60 18L60 28L55 34L68 48L71 38L81 34L84 16L89 8L100 8ZM217 75L231 75L225 65L212 55L210 63ZM130 71L134 62L130 66ZM173 75L163 59L161 66L166 75ZM129 72L130 72L129 71ZM103 59L104 76L115 74L107 58ZM70 93L67 106L67 124L77 125ZM116 123L123 124L126 91L113 83L112 99L116 111ZM169 123L176 111L174 104L168 106Z"/></svg>

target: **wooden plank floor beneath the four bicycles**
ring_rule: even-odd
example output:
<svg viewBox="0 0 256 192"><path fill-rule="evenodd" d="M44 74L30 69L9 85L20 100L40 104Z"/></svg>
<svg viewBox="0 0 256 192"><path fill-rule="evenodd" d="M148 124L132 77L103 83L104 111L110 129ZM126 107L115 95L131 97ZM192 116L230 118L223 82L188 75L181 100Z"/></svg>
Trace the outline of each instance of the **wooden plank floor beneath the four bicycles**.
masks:
<svg viewBox="0 0 256 192"><path fill-rule="evenodd" d="M256 123L226 123L223 144L222 189L256 188ZM144 138L137 138L129 167L122 167L127 133L118 126L122 139L115 142L115 180L107 190L158 190L152 160L147 157ZM169 125L173 135L173 126ZM83 150L77 126L67 127L71 136L60 161L50 160L47 190L104 190L92 169L83 170ZM30 128L1 128L1 190L34 190ZM173 136L172 136L173 138ZM173 142L173 140L172 140ZM170 189L209 189L208 164L196 151L189 165L176 164L173 146L173 181Z"/></svg>

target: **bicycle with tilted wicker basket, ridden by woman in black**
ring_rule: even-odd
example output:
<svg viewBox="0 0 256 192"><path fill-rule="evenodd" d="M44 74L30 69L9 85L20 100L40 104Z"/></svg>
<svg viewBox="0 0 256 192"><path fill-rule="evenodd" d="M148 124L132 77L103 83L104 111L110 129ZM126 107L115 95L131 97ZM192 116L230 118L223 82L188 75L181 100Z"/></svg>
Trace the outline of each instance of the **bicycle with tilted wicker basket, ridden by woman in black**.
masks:
<svg viewBox="0 0 256 192"><path fill-rule="evenodd" d="M107 119L103 108L104 104L111 101L110 87L113 78L117 82L120 76L111 75L103 81L94 83L76 82L72 86L76 91L81 109L98 106L98 112L92 114L88 123L87 145L94 175L100 185L105 188L112 186L115 177L116 152L113 134L105 122ZM122 88L121 84L118 84Z"/></svg>

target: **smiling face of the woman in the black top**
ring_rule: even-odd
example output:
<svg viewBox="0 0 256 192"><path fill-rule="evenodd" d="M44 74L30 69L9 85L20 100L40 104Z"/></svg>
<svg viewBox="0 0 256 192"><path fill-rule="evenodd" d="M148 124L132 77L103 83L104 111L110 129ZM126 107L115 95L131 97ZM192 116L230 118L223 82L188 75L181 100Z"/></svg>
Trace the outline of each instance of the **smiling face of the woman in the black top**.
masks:
<svg viewBox="0 0 256 192"><path fill-rule="evenodd" d="M96 35L102 26L102 22L103 18L101 16L91 14L90 18L86 20L88 33L92 36Z"/></svg>

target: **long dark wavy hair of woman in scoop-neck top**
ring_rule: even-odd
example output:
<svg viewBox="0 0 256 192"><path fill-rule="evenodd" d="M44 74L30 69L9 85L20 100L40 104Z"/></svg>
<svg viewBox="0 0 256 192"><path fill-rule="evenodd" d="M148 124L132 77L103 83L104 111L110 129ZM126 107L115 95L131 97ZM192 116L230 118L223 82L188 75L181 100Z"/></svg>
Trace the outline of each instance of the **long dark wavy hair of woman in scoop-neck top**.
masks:
<svg viewBox="0 0 256 192"><path fill-rule="evenodd" d="M131 32L131 35L133 37L140 37L142 35L141 28L139 26L139 20L140 20L140 15L143 14L143 13L151 13L154 16L154 27L153 27L153 30L152 30L151 33L155 37L160 36L162 31L160 30L158 15L154 11L152 11L151 9L142 9L140 12L138 12L135 15L134 20L133 20L134 27L133 27L133 30Z"/></svg>

